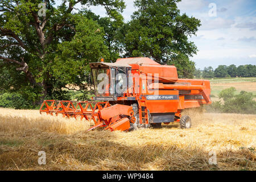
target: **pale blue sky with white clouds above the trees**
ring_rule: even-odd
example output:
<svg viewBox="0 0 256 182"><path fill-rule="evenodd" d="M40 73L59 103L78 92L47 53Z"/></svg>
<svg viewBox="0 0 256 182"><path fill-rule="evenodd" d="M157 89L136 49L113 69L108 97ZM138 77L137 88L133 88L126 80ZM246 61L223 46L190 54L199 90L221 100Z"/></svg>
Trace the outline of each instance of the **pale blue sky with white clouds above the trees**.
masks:
<svg viewBox="0 0 256 182"><path fill-rule="evenodd" d="M122 15L130 20L136 10L133 0L124 0ZM81 5L75 6L77 9ZM256 1L255 0L182 0L177 4L181 14L201 20L196 36L189 38L198 48L191 57L196 68L218 65L256 64ZM103 7L89 7L95 14L106 16Z"/></svg>

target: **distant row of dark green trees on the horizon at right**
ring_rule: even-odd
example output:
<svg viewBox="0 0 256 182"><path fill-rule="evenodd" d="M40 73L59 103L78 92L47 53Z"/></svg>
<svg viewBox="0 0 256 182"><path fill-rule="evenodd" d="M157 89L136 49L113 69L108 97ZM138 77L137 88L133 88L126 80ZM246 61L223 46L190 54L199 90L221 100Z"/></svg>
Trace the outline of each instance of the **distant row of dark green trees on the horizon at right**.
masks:
<svg viewBox="0 0 256 182"><path fill-rule="evenodd" d="M205 67L203 71L196 69L194 76L197 78L225 78L225 77L256 77L256 65L219 65L213 70L212 67Z"/></svg>

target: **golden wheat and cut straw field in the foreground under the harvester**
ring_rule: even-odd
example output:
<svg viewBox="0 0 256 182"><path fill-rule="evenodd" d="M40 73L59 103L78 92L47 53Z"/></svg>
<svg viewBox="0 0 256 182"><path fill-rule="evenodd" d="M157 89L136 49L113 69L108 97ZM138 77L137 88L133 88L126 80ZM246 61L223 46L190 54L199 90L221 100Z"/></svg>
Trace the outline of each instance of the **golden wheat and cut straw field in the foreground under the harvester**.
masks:
<svg viewBox="0 0 256 182"><path fill-rule="evenodd" d="M255 170L256 115L189 111L192 128L89 131L92 123L0 108L0 170ZM46 165L38 152L46 152ZM217 164L209 164L209 152Z"/></svg>

